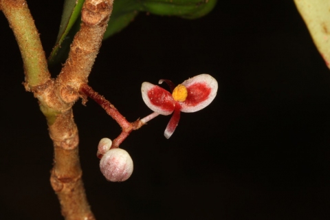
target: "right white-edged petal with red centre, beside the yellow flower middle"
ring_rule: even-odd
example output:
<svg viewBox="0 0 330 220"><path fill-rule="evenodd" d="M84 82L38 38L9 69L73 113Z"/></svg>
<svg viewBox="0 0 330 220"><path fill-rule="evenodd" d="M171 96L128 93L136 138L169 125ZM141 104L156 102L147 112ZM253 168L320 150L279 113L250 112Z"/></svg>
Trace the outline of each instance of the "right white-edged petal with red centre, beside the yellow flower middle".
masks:
<svg viewBox="0 0 330 220"><path fill-rule="evenodd" d="M182 83L187 90L188 96L184 102L180 102L181 111L195 112L208 106L217 96L218 83L212 76L201 74L192 77Z"/></svg>

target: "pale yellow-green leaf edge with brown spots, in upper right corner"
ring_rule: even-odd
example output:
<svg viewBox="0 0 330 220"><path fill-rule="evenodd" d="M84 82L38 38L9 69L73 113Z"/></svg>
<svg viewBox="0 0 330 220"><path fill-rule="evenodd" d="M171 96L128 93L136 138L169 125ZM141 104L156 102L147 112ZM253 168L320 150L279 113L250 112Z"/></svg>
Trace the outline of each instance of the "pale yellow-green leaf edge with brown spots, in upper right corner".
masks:
<svg viewBox="0 0 330 220"><path fill-rule="evenodd" d="M330 69L330 1L294 0L309 33Z"/></svg>

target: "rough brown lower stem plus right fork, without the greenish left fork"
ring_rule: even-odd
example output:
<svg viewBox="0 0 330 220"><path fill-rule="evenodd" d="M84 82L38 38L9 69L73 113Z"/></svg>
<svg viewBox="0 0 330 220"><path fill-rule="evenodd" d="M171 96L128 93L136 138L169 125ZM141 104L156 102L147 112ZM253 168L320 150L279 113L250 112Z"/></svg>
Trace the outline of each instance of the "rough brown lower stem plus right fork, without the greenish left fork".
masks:
<svg viewBox="0 0 330 220"><path fill-rule="evenodd" d="M62 106L69 107L67 111L61 109L61 114L50 125L55 151L51 181L66 219L94 219L81 179L78 130L74 124L71 105L80 96L79 86L87 83L87 77L100 50L112 5L113 1L109 0L85 1L80 31L74 37L69 58L54 83L56 94L66 103Z"/></svg>

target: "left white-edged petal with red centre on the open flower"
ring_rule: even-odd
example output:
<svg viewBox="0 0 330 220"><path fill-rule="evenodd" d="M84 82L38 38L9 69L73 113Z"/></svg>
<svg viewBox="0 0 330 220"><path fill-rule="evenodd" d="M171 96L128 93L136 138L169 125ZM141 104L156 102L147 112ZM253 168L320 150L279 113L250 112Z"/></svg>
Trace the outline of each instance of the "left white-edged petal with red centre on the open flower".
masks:
<svg viewBox="0 0 330 220"><path fill-rule="evenodd" d="M162 87L144 82L142 83L141 92L144 103L151 110L161 115L170 115L174 111L175 100Z"/></svg>

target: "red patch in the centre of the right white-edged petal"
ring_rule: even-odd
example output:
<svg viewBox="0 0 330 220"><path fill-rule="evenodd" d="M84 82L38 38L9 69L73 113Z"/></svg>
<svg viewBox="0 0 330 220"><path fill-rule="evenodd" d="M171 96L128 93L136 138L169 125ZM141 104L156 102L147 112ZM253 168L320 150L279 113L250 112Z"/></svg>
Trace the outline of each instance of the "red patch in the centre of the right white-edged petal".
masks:
<svg viewBox="0 0 330 220"><path fill-rule="evenodd" d="M211 88L206 83L195 83L187 87L188 96L184 104L188 107L194 107L200 102L208 99L211 93Z"/></svg>

